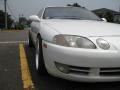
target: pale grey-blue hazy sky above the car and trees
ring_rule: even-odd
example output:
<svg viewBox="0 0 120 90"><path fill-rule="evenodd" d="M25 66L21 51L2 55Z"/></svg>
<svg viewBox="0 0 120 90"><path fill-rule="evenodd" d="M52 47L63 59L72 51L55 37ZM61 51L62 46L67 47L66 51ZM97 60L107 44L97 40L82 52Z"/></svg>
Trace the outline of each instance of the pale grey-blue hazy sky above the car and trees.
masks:
<svg viewBox="0 0 120 90"><path fill-rule="evenodd" d="M7 0L9 13L14 19L19 16L29 17L37 14L45 6L66 6L67 4L79 3L89 10L108 8L119 11L120 0ZM4 0L0 0L0 10L4 9ZM12 13L11 13L12 12Z"/></svg>

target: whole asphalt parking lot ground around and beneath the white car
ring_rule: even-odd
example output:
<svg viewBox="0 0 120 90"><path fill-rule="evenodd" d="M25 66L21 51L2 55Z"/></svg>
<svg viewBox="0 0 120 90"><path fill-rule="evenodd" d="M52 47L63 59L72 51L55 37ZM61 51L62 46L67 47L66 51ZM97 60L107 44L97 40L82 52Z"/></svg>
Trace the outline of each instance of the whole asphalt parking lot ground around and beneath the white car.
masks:
<svg viewBox="0 0 120 90"><path fill-rule="evenodd" d="M38 75L34 62L35 49L28 47L27 35L27 31L0 32L0 90L120 90L120 82L83 83ZM23 69L21 64L25 61L21 60L21 45L25 51L25 56L22 56L26 57L28 66L23 65ZM28 74L23 70L27 70ZM31 81L23 80L24 77L30 77L32 86L29 86Z"/></svg>

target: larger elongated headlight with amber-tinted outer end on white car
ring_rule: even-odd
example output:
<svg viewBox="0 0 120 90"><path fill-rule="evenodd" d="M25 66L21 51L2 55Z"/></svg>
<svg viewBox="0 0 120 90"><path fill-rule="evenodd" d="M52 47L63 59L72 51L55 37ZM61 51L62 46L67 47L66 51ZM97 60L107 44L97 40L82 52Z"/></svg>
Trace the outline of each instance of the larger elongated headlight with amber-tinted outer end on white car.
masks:
<svg viewBox="0 0 120 90"><path fill-rule="evenodd" d="M85 37L72 36L72 35L56 35L53 42L57 45L75 47L75 48L87 48L96 49L95 44Z"/></svg>

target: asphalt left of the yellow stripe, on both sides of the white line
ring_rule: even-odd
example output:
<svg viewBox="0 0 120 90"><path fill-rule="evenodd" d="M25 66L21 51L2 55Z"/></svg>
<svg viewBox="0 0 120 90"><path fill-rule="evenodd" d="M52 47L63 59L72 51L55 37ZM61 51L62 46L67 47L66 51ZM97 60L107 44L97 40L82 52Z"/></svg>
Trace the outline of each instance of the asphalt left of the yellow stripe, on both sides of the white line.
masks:
<svg viewBox="0 0 120 90"><path fill-rule="evenodd" d="M27 31L0 31L0 90L23 90L19 43L27 43Z"/></svg>

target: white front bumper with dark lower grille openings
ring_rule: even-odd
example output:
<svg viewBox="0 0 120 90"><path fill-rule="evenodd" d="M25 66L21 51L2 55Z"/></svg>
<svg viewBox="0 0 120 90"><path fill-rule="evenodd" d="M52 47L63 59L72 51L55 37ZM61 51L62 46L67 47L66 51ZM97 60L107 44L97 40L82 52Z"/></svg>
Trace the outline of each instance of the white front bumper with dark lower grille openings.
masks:
<svg viewBox="0 0 120 90"><path fill-rule="evenodd" d="M45 66L56 77L85 82L120 81L120 51L64 47L49 42L43 47ZM55 62L71 67L69 74L59 71Z"/></svg>

